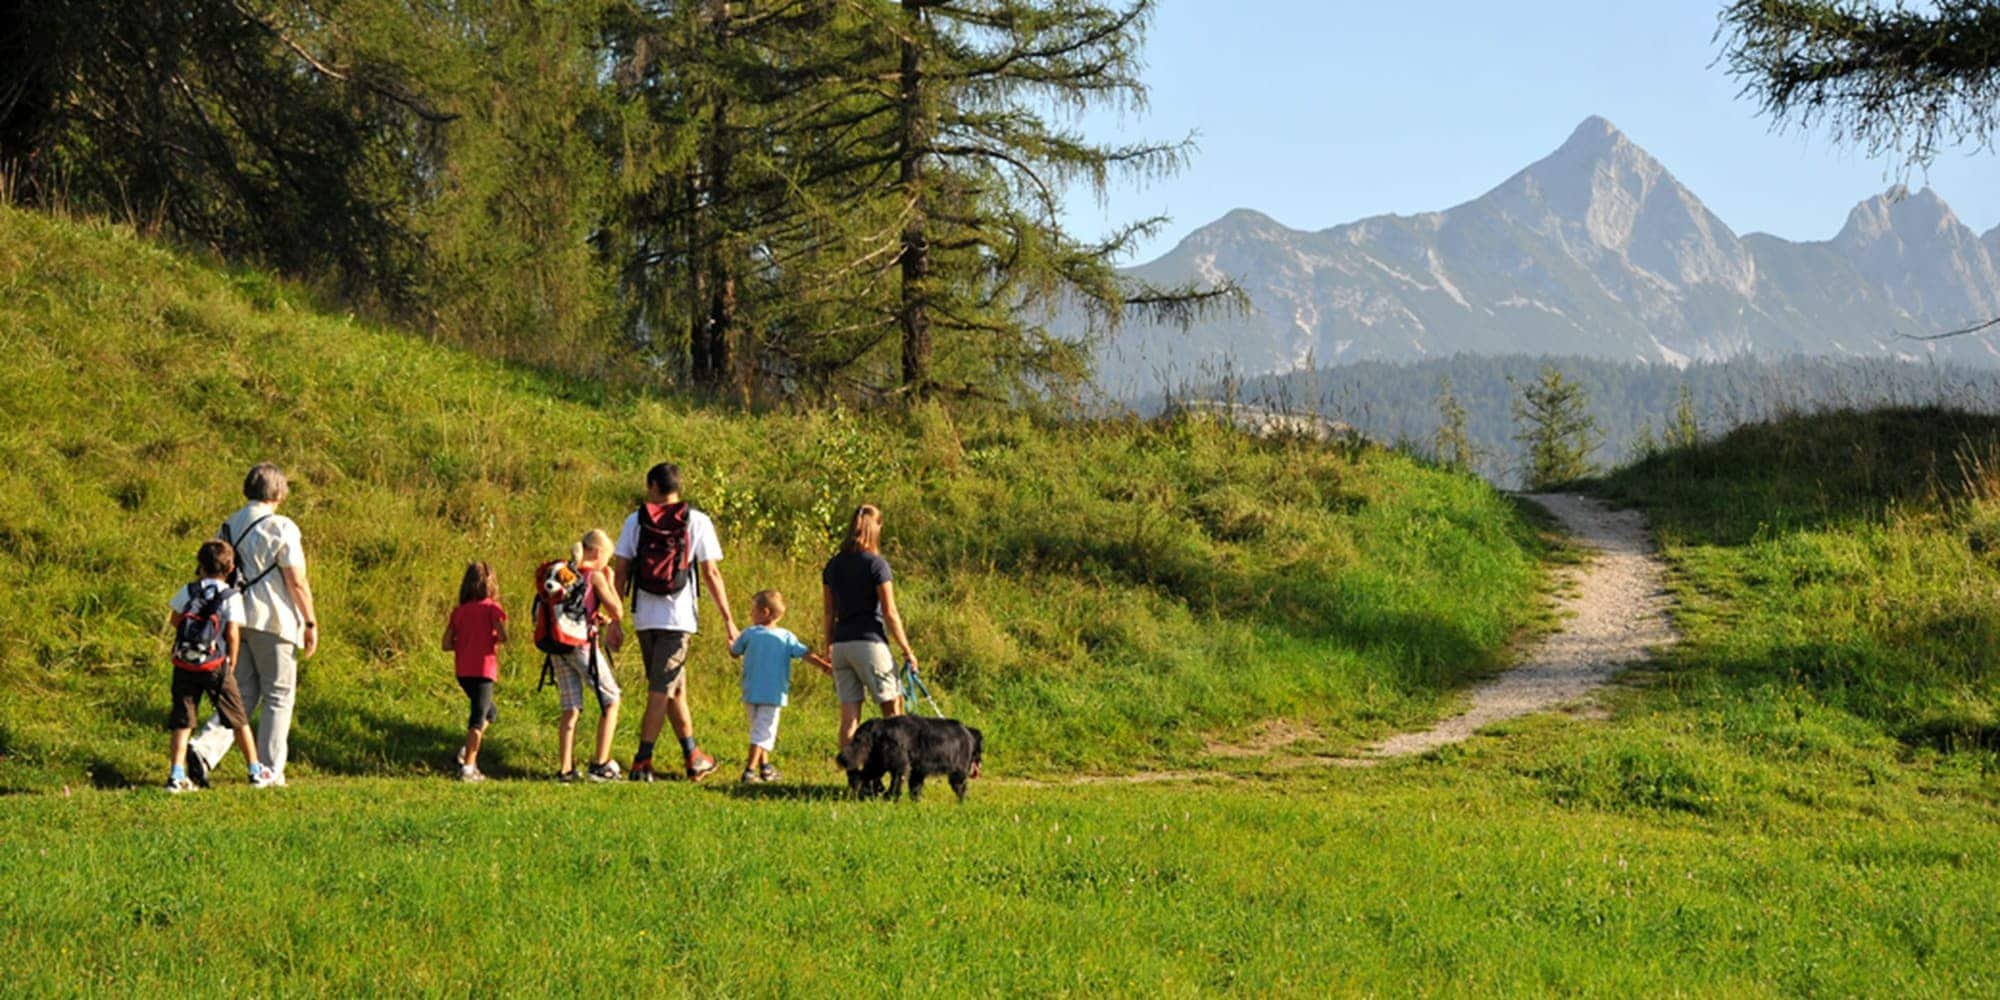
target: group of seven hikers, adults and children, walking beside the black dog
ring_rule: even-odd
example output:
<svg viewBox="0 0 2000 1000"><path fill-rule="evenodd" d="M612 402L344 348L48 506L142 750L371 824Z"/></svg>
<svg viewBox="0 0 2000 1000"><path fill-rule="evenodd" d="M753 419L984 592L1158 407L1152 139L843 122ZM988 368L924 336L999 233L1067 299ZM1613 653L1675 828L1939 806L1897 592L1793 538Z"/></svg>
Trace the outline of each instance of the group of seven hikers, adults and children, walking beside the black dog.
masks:
<svg viewBox="0 0 2000 1000"><path fill-rule="evenodd" d="M180 588L170 606L174 630L174 706L168 792L206 788L210 774L228 754L242 750L250 784L284 786L288 734L298 698L298 664L320 646L312 584L298 524L278 512L290 488L274 464L258 464L244 476L244 506L222 522L216 538L196 552L198 578ZM890 654L890 640L902 648L914 672L916 654L896 614L896 592L888 562L880 552L882 512L860 506L848 522L846 538L820 574L824 600L822 650L780 628L784 594L760 590L750 598L750 628L738 630L722 580L722 544L708 514L680 498L680 470L656 464L646 472L646 500L626 516L618 538L602 530L584 532L568 558L550 560L534 576L534 644L544 654L542 680L554 682L560 702L556 780L610 782L622 774L654 780L654 744L672 726L680 744L682 776L702 780L716 760L694 740L688 708L688 644L698 632L696 606L708 594L730 654L742 660L742 702L748 716L744 782L776 782L772 752L778 718L790 694L792 664L806 660L834 678L840 700L840 750L862 724L864 702L874 702L884 718L902 716L904 692ZM612 734L624 692L612 674L610 654L626 644L626 630L638 636L646 664L646 716L630 772L612 758ZM466 566L458 606L444 628L444 650L452 652L458 686L470 712L466 742L458 750L458 776L480 774L480 742L494 722L494 680L498 648L508 642L508 614L492 566ZM578 766L576 722L584 692L598 702L598 730L590 760ZM210 716L200 720L200 702ZM256 726L250 726L252 712Z"/></svg>

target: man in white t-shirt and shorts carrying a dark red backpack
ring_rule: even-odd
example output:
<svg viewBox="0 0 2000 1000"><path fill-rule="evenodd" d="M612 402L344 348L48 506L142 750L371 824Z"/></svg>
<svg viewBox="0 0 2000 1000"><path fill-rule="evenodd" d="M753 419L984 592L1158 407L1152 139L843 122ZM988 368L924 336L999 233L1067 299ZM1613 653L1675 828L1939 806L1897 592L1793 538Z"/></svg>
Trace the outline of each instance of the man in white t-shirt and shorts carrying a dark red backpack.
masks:
<svg viewBox="0 0 2000 1000"><path fill-rule="evenodd" d="M722 542L716 540L716 524L680 500L680 468L666 462L652 466L646 472L646 504L626 518L612 546L612 584L620 594L632 594L628 616L646 660L646 718L632 758L634 782L654 780L652 744L664 722L674 724L690 782L716 770L716 758L694 742L686 666L698 592L704 588L722 614L728 642L736 642L736 616L730 614L718 562Z"/></svg>

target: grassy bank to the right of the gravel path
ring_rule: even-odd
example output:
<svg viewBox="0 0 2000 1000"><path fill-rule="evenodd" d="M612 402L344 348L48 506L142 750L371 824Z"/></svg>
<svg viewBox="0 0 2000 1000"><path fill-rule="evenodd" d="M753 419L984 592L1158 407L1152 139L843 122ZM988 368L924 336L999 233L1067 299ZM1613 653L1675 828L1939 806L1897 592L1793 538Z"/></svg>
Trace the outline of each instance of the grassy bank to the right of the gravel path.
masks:
<svg viewBox="0 0 2000 1000"><path fill-rule="evenodd" d="M1834 412L1612 476L1678 570L1674 698L1780 756L2000 750L2000 418Z"/></svg>

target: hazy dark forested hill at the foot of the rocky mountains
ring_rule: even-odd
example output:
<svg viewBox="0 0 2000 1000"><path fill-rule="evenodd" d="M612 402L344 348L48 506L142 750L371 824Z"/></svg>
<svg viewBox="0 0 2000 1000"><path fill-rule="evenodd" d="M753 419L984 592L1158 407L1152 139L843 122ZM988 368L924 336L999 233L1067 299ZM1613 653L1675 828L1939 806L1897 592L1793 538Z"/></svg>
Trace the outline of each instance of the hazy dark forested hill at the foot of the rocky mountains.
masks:
<svg viewBox="0 0 2000 1000"><path fill-rule="evenodd" d="M1590 412L1604 430L1594 454L1600 466L1630 458L1644 440L1660 438L1674 418L1682 388L1702 436L1798 412L1884 404L1950 404L1974 412L2000 410L2000 372L1942 364L1858 358L1786 358L1692 364L1620 364L1592 358L1526 354L1440 358L1416 364L1362 362L1316 372L1260 376L1208 386L1190 396L1308 410L1354 424L1384 442L1428 450L1438 428L1440 382L1466 408L1468 432L1484 452L1480 472L1512 484L1518 432L1512 416L1516 386L1554 364L1590 392ZM1158 406L1164 400L1154 400Z"/></svg>

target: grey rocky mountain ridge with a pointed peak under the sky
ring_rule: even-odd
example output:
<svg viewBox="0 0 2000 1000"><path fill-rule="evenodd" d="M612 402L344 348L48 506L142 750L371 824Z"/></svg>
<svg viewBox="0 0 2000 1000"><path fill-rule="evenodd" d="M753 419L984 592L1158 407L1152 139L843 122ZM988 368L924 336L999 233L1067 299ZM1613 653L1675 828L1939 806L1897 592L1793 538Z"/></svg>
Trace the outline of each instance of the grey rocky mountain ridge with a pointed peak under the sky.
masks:
<svg viewBox="0 0 2000 1000"><path fill-rule="evenodd" d="M1132 268L1158 284L1232 276L1250 312L1190 332L1128 324L1102 384L1144 394L1218 374L1450 354L1634 362L1740 354L2000 364L1986 338L1898 334L2000 316L2000 228L1936 192L1868 198L1832 240L1738 236L1652 154L1588 118L1550 156L1444 212L1318 232L1236 210Z"/></svg>

